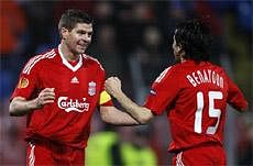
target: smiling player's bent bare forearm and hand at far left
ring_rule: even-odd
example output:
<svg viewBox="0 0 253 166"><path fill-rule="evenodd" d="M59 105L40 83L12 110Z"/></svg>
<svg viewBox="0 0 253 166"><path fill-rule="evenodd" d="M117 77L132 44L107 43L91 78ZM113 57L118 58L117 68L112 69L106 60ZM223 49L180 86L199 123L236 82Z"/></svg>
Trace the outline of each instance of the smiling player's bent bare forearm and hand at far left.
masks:
<svg viewBox="0 0 253 166"><path fill-rule="evenodd" d="M10 115L21 117L30 113L35 109L41 109L47 103L54 102L55 92L54 88L45 88L43 89L38 97L33 100L26 100L23 97L14 97L11 100L9 112Z"/></svg>

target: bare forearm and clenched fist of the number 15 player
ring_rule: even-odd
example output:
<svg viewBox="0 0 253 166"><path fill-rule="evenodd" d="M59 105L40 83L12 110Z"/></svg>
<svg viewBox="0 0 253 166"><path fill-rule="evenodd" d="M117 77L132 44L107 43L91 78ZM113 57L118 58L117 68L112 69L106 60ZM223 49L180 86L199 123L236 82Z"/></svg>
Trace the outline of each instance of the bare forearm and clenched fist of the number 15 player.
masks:
<svg viewBox="0 0 253 166"><path fill-rule="evenodd" d="M121 89L121 81L118 77L110 77L106 80L106 90L113 96L125 111L140 124L147 123L154 117L150 109L138 106L125 96Z"/></svg>

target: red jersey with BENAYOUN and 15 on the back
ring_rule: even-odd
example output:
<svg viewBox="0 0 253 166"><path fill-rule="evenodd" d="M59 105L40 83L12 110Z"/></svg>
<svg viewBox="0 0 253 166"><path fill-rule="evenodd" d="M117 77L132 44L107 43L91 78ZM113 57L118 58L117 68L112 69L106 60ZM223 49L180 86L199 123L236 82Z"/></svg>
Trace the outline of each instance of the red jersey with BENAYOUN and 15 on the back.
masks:
<svg viewBox="0 0 253 166"><path fill-rule="evenodd" d="M246 108L240 89L211 63L186 60L166 68L152 85L145 107L154 114L167 111L172 143L180 151L206 142L223 142L227 102Z"/></svg>

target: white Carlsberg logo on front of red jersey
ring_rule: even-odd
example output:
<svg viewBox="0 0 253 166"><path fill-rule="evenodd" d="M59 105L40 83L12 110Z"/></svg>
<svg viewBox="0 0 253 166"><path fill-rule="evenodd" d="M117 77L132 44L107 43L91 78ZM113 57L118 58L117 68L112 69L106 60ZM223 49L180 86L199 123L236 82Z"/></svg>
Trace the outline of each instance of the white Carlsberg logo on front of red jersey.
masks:
<svg viewBox="0 0 253 166"><path fill-rule="evenodd" d="M66 112L77 111L77 112L85 112L89 110L89 103L86 102L86 98L82 98L82 101L77 99L68 99L68 97L59 97L58 107Z"/></svg>

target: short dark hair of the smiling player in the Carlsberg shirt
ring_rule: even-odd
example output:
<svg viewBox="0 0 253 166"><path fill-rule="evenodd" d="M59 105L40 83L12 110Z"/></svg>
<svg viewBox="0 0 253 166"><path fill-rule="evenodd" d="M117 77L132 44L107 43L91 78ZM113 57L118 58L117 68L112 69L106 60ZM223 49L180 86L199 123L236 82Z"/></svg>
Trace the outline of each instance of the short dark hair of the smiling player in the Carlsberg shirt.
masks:
<svg viewBox="0 0 253 166"><path fill-rule="evenodd" d="M92 24L94 20L86 12L78 9L68 9L59 19L58 31L61 32L62 27L72 31L77 23L87 23Z"/></svg>

